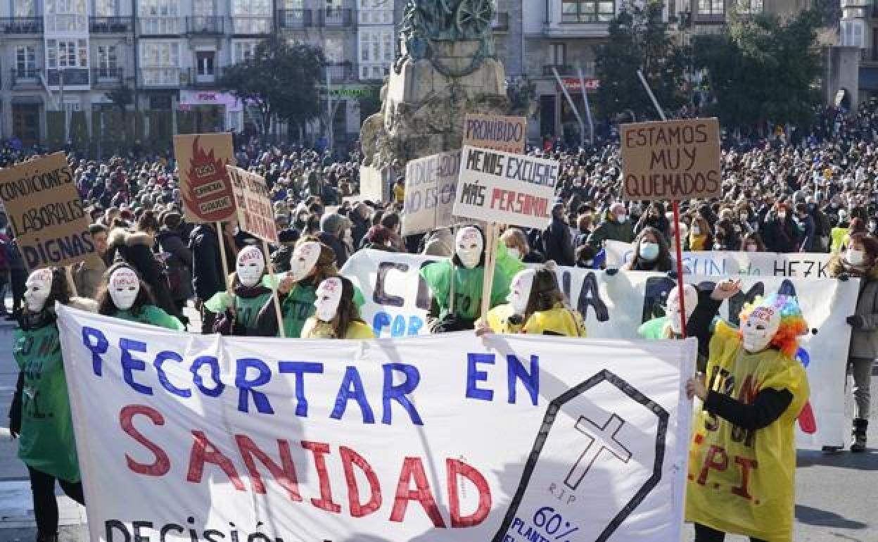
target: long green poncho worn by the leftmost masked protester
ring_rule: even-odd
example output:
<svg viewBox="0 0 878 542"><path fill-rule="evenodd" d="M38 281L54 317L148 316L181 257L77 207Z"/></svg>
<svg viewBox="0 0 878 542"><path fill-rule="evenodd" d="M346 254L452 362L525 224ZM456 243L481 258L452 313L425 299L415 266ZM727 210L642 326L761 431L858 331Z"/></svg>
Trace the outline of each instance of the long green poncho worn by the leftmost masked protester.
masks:
<svg viewBox="0 0 878 542"><path fill-rule="evenodd" d="M16 329L12 355L25 373L18 458L41 473L80 480L58 327Z"/></svg>

